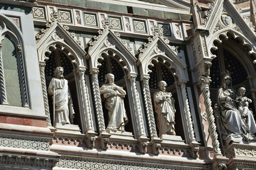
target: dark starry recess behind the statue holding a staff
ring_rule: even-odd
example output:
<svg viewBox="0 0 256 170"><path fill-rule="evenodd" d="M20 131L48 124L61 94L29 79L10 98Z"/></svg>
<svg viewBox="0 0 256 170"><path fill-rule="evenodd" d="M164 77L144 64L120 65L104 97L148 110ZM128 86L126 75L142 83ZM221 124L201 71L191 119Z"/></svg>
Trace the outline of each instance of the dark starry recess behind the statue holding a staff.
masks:
<svg viewBox="0 0 256 170"><path fill-rule="evenodd" d="M79 111L79 102L78 102L78 89L76 88L76 82L74 77L73 70L75 69L74 64L71 63L72 59L70 59L65 51L52 50L52 53L47 57L49 58L46 61L45 66L45 80L46 80L46 89L49 87L50 80L55 78L54 70L56 67L63 67L63 76L64 79L68 80L68 88L71 92L71 97L73 101L74 108L74 124L78 125L80 129L82 129L82 123L80 119L80 111ZM49 110L50 110L50 118L51 122L53 122L53 100L52 97L48 95L49 101Z"/></svg>

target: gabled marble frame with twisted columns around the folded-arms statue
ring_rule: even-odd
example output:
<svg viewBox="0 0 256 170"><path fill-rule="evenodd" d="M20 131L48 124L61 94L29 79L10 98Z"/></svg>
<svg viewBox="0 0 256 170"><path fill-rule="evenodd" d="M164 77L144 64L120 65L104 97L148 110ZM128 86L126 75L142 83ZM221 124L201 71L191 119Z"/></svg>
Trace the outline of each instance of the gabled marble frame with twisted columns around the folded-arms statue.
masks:
<svg viewBox="0 0 256 170"><path fill-rule="evenodd" d="M95 41L90 42L91 47L89 47L88 55L86 56L90 64L90 72L93 80L93 94L95 107L97 108L95 116L97 116L99 132L101 134L105 132L106 129L105 124L102 123L105 122L105 120L103 119L101 96L99 92L101 84L99 84L98 74L101 61L106 59L107 62L108 58L111 58L111 60L119 64L125 76L124 80L122 80L124 87L127 89L128 102L125 104L129 103L129 112L131 114L131 120L129 121L132 122L134 137L145 136L145 126L140 123L142 122L142 107L139 106L139 97L135 83L136 72L134 65L137 59L132 54L131 48L127 47L126 42L120 39L118 33L115 34L111 29L107 28L104 29L103 32L99 31L99 34L98 37L94 38ZM137 122L139 122L139 124L137 124Z"/></svg>

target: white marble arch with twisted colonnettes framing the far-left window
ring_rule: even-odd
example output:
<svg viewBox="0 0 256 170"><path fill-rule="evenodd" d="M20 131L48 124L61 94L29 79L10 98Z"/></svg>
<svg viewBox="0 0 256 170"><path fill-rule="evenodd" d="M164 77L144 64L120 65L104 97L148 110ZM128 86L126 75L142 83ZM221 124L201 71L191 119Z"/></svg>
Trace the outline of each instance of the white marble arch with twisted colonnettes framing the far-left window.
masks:
<svg viewBox="0 0 256 170"><path fill-rule="evenodd" d="M11 40L15 43L17 60L18 60L18 70L21 86L21 95L22 95L22 106L30 107L29 100L29 89L27 84L26 77L26 66L25 66L25 52L23 45L23 37L20 30L8 19L6 16L0 14L0 95L1 95L1 104L9 105L7 101L7 94L5 89L5 80L4 80L4 70L3 70L3 59L1 54L2 44L1 41L4 39L5 35L10 36Z"/></svg>

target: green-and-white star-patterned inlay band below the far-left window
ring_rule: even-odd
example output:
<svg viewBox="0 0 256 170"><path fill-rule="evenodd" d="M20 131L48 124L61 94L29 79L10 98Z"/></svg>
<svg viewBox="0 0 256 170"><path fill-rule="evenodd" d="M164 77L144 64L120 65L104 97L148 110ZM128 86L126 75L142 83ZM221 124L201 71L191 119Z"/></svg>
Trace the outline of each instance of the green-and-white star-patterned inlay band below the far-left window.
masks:
<svg viewBox="0 0 256 170"><path fill-rule="evenodd" d="M22 149L49 150L49 143L27 139L13 139L0 137L0 146Z"/></svg>

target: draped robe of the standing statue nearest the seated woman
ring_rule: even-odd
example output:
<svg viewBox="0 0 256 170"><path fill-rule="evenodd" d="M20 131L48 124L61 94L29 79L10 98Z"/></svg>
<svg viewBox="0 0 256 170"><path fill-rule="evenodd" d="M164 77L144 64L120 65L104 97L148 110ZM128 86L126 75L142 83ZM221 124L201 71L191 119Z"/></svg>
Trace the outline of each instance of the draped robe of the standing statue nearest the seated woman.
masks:
<svg viewBox="0 0 256 170"><path fill-rule="evenodd" d="M166 92L154 92L155 112L157 112L157 126L159 129L159 136L174 129L174 109L172 100L166 100Z"/></svg>

